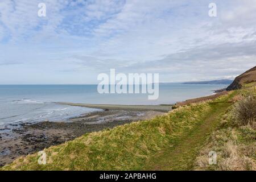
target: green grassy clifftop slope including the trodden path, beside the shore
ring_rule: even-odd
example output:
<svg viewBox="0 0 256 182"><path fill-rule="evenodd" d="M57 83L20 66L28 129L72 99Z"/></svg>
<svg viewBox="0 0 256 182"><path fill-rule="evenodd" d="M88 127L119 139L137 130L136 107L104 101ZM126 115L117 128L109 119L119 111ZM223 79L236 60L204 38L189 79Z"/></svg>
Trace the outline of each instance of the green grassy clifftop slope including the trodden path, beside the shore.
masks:
<svg viewBox="0 0 256 182"><path fill-rule="evenodd" d="M39 155L32 154L1 170L191 169L197 151L218 126L218 118L235 94L46 148L46 165L38 164Z"/></svg>

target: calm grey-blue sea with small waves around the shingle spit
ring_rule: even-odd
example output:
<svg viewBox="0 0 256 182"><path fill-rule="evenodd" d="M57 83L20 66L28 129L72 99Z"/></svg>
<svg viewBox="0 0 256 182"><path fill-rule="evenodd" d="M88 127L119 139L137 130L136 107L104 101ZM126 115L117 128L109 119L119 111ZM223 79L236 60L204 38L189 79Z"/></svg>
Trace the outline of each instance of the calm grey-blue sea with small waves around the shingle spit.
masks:
<svg viewBox="0 0 256 182"><path fill-rule="evenodd" d="M55 104L157 105L208 96L228 85L160 84L158 100L148 94L99 94L97 85L0 85L0 126L10 123L67 121L98 109Z"/></svg>

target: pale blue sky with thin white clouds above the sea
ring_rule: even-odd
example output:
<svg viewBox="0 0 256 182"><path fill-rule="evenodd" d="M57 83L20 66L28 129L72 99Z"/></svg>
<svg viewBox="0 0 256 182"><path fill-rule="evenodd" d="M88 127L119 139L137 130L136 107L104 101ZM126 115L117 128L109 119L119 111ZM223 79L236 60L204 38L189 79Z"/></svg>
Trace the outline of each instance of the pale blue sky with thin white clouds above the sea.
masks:
<svg viewBox="0 0 256 182"><path fill-rule="evenodd" d="M97 84L110 69L233 79L255 50L256 0L0 1L0 84Z"/></svg>

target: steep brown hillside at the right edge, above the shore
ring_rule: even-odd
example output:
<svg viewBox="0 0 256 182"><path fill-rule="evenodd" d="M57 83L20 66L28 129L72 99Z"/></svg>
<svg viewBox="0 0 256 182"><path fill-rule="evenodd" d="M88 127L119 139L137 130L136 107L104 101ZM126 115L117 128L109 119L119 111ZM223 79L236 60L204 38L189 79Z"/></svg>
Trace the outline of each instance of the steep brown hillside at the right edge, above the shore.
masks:
<svg viewBox="0 0 256 182"><path fill-rule="evenodd" d="M254 81L256 81L256 66L236 77L226 90L241 89L243 84L249 84Z"/></svg>

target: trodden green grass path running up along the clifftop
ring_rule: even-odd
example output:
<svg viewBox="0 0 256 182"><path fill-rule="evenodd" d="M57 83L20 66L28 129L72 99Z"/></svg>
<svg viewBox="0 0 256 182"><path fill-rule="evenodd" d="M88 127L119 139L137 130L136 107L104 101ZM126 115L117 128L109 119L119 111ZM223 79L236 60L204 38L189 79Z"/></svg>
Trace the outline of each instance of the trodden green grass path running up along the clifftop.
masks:
<svg viewBox="0 0 256 182"><path fill-rule="evenodd" d="M211 104L211 110L202 118L201 122L192 131L181 138L172 147L167 147L149 159L145 165L147 170L189 170L193 168L193 162L203 147L209 134L220 123L221 116L232 102L229 102L234 94L230 94L224 102Z"/></svg>

